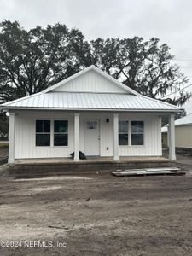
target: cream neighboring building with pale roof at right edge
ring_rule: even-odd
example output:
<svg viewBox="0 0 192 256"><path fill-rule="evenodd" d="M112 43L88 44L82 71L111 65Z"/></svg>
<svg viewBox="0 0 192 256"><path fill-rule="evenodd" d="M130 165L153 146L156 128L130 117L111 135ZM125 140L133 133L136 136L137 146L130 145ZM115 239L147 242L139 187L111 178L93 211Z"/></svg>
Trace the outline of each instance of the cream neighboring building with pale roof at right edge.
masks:
<svg viewBox="0 0 192 256"><path fill-rule="evenodd" d="M168 125L161 129L163 146L168 147ZM192 148L192 113L175 121L175 146L176 148Z"/></svg>

